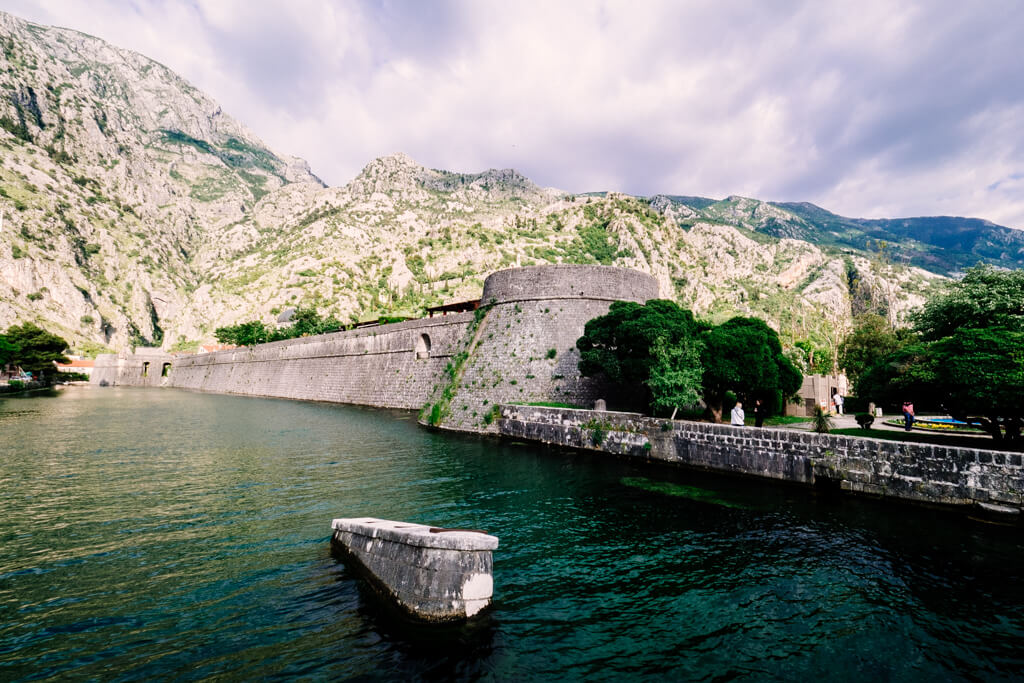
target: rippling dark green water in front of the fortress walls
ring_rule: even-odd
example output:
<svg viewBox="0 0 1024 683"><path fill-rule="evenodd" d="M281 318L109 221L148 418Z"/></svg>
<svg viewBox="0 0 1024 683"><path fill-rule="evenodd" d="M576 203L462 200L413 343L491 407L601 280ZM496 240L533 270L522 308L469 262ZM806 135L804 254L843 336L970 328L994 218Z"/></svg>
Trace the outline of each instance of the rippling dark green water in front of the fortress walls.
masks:
<svg viewBox="0 0 1024 683"><path fill-rule="evenodd" d="M1019 529L452 436L407 413L0 399L0 680L1013 680ZM468 626L331 555L372 515L501 539Z"/></svg>

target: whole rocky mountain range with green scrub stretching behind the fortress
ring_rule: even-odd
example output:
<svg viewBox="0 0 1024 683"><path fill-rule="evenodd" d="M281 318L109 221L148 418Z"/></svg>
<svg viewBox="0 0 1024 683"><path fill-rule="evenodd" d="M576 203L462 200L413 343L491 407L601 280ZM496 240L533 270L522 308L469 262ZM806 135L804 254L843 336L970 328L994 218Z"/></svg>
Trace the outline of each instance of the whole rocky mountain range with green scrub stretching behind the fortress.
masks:
<svg viewBox="0 0 1024 683"><path fill-rule="evenodd" d="M572 196L404 155L325 187L141 55L2 13L0 47L0 329L35 319L80 348L188 348L295 305L419 315L494 270L561 262L637 268L700 314L762 315L831 352L857 312L896 322L975 257L1024 261L1009 228L949 242L970 219Z"/></svg>

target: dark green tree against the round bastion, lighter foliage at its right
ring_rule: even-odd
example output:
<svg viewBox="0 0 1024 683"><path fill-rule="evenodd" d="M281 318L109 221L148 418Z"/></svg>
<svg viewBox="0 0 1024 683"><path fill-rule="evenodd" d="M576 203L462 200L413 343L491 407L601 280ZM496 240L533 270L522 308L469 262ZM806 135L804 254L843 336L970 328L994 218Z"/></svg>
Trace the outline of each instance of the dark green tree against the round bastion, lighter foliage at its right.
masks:
<svg viewBox="0 0 1024 683"><path fill-rule="evenodd" d="M577 341L580 373L643 386L652 408L679 405L674 401L695 393L689 364L699 361L697 335L706 327L667 299L615 301L606 314L587 323Z"/></svg>

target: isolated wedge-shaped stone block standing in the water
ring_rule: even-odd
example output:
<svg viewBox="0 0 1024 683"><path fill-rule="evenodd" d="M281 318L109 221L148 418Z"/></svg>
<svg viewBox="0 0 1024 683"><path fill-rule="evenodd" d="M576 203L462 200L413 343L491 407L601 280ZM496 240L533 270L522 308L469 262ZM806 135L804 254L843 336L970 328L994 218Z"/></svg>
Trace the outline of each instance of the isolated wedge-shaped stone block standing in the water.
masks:
<svg viewBox="0 0 1024 683"><path fill-rule="evenodd" d="M496 537L374 517L335 519L331 527L334 548L415 618L465 620L490 603Z"/></svg>

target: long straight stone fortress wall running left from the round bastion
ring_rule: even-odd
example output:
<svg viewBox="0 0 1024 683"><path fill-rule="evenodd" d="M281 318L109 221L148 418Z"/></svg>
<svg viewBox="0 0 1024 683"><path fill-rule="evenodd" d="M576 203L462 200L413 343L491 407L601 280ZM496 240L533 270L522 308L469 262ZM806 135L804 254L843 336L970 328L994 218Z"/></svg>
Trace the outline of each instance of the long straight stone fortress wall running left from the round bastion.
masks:
<svg viewBox="0 0 1024 683"><path fill-rule="evenodd" d="M158 370L156 382L152 371L141 377L142 357L100 356L92 382L419 409L472 318L458 313L216 353L163 354L170 373L161 381Z"/></svg>

